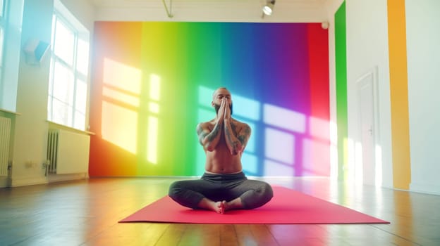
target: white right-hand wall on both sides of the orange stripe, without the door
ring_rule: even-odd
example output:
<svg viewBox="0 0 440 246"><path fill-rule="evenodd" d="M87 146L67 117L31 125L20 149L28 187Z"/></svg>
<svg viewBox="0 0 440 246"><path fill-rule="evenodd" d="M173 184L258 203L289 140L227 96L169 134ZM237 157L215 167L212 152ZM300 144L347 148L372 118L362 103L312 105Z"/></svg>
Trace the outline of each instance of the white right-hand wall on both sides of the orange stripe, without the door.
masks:
<svg viewBox="0 0 440 246"><path fill-rule="evenodd" d="M440 194L440 1L407 0L408 103L410 113L410 190ZM350 168L356 160L359 103L355 82L377 67L378 143L382 186L393 187L391 105L386 1L346 1L348 136ZM398 163L395 163L398 164Z"/></svg>

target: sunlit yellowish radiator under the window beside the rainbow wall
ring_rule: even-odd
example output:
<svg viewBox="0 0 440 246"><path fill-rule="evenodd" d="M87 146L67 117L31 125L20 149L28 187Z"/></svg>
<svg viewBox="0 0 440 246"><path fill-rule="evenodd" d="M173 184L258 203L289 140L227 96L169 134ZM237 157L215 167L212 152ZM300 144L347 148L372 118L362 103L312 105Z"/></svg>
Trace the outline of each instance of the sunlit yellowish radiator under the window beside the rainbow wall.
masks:
<svg viewBox="0 0 440 246"><path fill-rule="evenodd" d="M49 130L49 174L82 174L89 169L90 136L61 129Z"/></svg>

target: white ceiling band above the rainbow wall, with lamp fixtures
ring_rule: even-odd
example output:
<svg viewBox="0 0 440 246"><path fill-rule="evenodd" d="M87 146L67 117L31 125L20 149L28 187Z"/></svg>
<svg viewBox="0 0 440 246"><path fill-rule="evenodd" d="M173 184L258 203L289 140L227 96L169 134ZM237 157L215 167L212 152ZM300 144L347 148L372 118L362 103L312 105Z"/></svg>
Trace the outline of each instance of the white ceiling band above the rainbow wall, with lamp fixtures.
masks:
<svg viewBox="0 0 440 246"><path fill-rule="evenodd" d="M324 22L329 0L276 0L274 13L262 15L266 0L87 0L97 20ZM166 13L166 4L172 17Z"/></svg>

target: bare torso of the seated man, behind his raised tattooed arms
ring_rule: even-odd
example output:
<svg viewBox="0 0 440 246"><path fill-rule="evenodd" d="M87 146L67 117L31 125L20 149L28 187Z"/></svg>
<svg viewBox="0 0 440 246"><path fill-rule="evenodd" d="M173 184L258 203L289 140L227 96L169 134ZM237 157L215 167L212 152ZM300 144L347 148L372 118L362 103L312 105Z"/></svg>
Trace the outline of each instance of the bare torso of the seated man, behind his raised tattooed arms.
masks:
<svg viewBox="0 0 440 246"><path fill-rule="evenodd" d="M204 127L212 130L214 128L214 121L204 122ZM232 124L236 131L240 131L241 127L244 127L245 124L242 122L238 122L233 120ZM214 174L234 174L242 171L243 167L241 164L241 154L232 155L226 145L226 141L224 140L224 136L220 137L219 143L216 145L216 148L213 151L204 150L206 154L206 162L205 162L205 171L214 173Z"/></svg>

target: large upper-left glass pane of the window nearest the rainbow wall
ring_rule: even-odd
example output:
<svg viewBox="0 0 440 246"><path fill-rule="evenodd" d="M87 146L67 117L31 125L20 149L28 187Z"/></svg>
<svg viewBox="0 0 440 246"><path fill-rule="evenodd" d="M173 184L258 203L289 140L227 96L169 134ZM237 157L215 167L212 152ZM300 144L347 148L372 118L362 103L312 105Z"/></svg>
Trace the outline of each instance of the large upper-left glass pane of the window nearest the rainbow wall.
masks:
<svg viewBox="0 0 440 246"><path fill-rule="evenodd" d="M68 65L73 65L75 51L75 34L66 25L56 19L54 53Z"/></svg>

